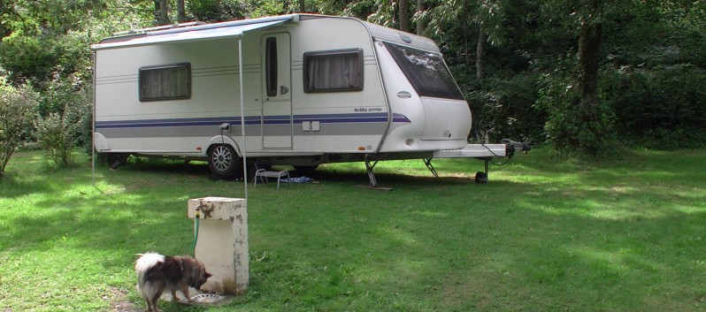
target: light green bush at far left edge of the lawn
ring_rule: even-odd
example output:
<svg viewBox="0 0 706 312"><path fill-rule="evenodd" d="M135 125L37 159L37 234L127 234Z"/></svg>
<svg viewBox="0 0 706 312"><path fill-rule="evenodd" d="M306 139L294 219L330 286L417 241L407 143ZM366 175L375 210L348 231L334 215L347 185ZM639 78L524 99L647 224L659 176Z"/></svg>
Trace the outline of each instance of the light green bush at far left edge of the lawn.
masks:
<svg viewBox="0 0 706 312"><path fill-rule="evenodd" d="M0 76L0 176L19 144L27 138L37 97L31 85L14 88Z"/></svg>

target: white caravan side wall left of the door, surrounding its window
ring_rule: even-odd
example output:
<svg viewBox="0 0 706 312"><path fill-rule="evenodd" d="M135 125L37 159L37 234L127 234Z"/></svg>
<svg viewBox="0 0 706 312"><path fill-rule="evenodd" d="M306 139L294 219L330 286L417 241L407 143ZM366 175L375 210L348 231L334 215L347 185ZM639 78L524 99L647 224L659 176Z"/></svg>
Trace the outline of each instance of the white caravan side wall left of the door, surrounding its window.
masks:
<svg viewBox="0 0 706 312"><path fill-rule="evenodd" d="M222 123L239 131L237 52L235 40L97 50L96 133L109 142L107 151L205 156L205 143L220 135ZM140 69L173 64L190 66L190 97L141 101ZM259 88L257 69L244 70L245 88Z"/></svg>

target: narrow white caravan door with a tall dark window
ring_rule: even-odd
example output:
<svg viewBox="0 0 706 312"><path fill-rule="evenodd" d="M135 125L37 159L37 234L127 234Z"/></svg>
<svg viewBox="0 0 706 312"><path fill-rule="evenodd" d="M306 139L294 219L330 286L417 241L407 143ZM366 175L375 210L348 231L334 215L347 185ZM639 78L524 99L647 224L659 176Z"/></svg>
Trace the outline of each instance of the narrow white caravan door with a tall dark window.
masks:
<svg viewBox="0 0 706 312"><path fill-rule="evenodd" d="M263 148L292 148L292 57L287 33L262 39Z"/></svg>

